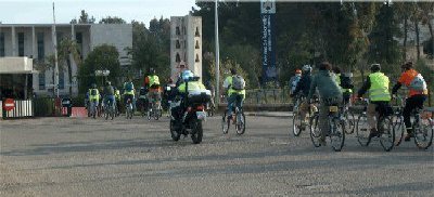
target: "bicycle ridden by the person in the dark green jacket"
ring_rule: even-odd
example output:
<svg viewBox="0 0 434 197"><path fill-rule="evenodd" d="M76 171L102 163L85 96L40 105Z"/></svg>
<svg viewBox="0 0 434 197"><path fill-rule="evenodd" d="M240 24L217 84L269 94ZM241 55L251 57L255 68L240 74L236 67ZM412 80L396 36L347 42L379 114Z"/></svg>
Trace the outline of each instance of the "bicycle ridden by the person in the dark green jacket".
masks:
<svg viewBox="0 0 434 197"><path fill-rule="evenodd" d="M345 129L342 122L342 110L336 105L337 102L328 102L332 105L328 106L329 115L328 115L328 124L329 124L329 136L333 150L341 152L344 147L345 143ZM320 139L322 131L318 128L319 123L319 111L314 111L314 115L310 117L310 140L315 147L321 146Z"/></svg>

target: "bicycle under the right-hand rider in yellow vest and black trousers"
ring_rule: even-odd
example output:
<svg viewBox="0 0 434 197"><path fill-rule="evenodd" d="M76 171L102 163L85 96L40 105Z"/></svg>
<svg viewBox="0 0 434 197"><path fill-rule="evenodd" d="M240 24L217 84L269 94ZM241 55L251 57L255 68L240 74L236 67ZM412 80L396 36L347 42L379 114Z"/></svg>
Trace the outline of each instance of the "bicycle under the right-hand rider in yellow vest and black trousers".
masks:
<svg viewBox="0 0 434 197"><path fill-rule="evenodd" d="M371 143L372 137L378 137L385 152L392 150L395 145L395 129L392 117L386 111L381 111L382 109L380 109L380 113L376 111L378 134L372 136L367 116L369 98L362 98L361 101L363 102L363 110L356 123L356 135L358 143L361 146L368 146ZM378 107L379 106L376 106L376 108ZM378 110L376 108L375 110Z"/></svg>

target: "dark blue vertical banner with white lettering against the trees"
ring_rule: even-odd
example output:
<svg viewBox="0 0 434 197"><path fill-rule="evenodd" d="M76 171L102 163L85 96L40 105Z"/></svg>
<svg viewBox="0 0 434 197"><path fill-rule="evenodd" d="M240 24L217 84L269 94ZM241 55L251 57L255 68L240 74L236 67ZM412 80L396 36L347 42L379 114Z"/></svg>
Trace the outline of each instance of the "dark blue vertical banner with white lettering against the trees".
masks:
<svg viewBox="0 0 434 197"><path fill-rule="evenodd" d="M276 1L260 0L260 18L263 23L263 82L277 81L276 36L275 36Z"/></svg>

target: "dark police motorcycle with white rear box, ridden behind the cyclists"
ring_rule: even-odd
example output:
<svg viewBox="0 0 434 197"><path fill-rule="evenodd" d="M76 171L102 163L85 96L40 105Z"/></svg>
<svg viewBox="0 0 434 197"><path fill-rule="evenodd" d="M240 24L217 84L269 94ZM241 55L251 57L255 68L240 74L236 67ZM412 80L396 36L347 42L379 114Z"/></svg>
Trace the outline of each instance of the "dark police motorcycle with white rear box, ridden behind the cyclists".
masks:
<svg viewBox="0 0 434 197"><path fill-rule="evenodd" d="M193 77L190 81L197 81ZM186 83L186 90L189 90ZM194 144L200 144L203 137L202 122L206 120L206 104L210 100L209 90L186 91L170 102L170 134L174 141L179 141L181 135L191 136Z"/></svg>

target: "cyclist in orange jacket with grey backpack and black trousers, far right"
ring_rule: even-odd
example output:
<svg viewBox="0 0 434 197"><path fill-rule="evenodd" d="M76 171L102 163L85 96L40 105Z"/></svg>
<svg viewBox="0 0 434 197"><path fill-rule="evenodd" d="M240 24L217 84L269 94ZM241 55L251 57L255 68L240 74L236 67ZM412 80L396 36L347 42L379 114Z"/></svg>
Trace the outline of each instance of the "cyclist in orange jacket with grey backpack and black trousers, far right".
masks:
<svg viewBox="0 0 434 197"><path fill-rule="evenodd" d="M405 141L410 141L410 139L413 136L410 114L414 108L423 108L423 102L426 100L427 95L427 88L423 77L413 68L412 62L407 62L401 65L401 70L403 74L392 89L392 94L395 95L403 84L409 89L403 116L407 128Z"/></svg>

